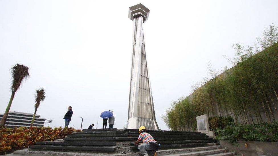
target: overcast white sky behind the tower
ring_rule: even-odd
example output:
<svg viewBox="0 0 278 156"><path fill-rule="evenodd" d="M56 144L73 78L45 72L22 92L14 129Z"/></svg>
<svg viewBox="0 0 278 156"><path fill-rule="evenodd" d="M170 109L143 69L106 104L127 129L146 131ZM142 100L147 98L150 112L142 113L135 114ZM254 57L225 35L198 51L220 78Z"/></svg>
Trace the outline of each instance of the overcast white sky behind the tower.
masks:
<svg viewBox="0 0 278 156"><path fill-rule="evenodd" d="M34 94L46 99L37 114L64 126L83 128L115 112L115 128L126 126L132 54L128 7L150 9L144 23L146 55L158 126L172 101L189 95L206 75L230 66L232 44L253 45L265 27L278 24L278 1L14 1L0 0L0 113L11 96L9 69L29 67L30 78L17 91L10 111L34 113ZM181 119L182 120L182 119Z"/></svg>

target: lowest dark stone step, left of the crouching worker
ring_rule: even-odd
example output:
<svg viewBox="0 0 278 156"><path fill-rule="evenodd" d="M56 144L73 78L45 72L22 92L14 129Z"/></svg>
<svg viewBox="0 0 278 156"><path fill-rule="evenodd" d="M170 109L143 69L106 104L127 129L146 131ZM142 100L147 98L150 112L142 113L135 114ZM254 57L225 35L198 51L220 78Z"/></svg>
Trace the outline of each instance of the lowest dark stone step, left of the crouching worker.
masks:
<svg viewBox="0 0 278 156"><path fill-rule="evenodd" d="M95 147L95 146L62 146L62 145L32 145L30 149L50 149L50 150L79 150L79 151L114 151L118 146Z"/></svg>

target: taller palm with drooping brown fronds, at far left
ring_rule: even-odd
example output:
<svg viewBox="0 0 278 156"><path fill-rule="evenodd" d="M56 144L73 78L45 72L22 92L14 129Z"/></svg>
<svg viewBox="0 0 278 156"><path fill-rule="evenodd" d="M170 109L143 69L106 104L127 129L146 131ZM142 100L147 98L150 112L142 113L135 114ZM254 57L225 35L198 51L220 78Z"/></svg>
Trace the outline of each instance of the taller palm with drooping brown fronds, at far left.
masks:
<svg viewBox="0 0 278 156"><path fill-rule="evenodd" d="M27 79L27 78L30 77L29 72L28 72L28 67L24 66L24 65L16 64L15 66L13 66L11 68L11 73L12 73L12 78L13 78L13 82L12 82L12 86L11 86L12 95L11 95L9 104L8 104L8 106L6 108L6 111L5 111L5 113L4 113L4 115L3 115L2 119L1 119L0 126L4 126L5 125L8 113L9 113L10 108L11 108L11 104L13 102L13 98L15 97L15 93L19 89L22 80L24 78Z"/></svg>

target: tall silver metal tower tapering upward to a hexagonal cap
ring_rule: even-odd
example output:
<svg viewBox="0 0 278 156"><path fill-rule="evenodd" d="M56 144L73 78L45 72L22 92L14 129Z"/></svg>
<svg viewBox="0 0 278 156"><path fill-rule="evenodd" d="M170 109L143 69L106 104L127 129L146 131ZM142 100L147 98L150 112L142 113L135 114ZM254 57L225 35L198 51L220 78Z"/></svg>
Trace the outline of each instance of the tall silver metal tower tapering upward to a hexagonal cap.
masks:
<svg viewBox="0 0 278 156"><path fill-rule="evenodd" d="M158 130L143 33L143 23L148 20L149 13L142 4L129 7L128 17L133 21L133 49L126 128L145 126L148 130Z"/></svg>

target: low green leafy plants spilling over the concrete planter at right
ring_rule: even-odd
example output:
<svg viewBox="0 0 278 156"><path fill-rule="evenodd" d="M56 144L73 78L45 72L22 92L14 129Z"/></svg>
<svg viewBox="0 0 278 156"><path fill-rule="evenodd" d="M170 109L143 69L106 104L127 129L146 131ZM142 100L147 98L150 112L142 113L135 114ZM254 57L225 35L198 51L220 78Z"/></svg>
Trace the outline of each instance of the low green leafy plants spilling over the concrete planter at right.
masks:
<svg viewBox="0 0 278 156"><path fill-rule="evenodd" d="M278 142L278 122L264 122L261 124L233 124L225 128L216 128L216 139L228 140L237 146L238 140Z"/></svg>

